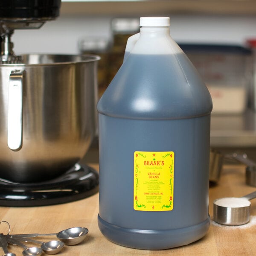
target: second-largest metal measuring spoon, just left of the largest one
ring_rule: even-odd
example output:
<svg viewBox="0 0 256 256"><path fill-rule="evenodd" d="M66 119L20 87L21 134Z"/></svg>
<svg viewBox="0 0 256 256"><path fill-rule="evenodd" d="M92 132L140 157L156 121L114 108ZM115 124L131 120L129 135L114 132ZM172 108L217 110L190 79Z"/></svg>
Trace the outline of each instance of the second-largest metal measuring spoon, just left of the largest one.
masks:
<svg viewBox="0 0 256 256"><path fill-rule="evenodd" d="M11 236L11 238L12 238L12 236ZM42 242L42 241L37 241L37 240L25 238L25 237L16 237L15 239L21 240L24 242L32 242L32 243L36 243L36 244L41 244L41 249L47 254L56 254L56 253L60 252L61 249L64 247L64 243L62 241L58 241L58 240Z"/></svg>

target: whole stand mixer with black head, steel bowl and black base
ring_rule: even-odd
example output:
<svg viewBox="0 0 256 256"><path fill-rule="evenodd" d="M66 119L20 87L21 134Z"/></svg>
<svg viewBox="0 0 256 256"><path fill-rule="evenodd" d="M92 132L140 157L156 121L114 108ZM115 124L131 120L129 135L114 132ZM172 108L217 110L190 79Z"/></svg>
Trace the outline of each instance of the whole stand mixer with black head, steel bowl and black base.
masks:
<svg viewBox="0 0 256 256"><path fill-rule="evenodd" d="M15 55L15 29L39 29L61 0L0 3L0 205L38 206L98 191L81 166L96 130L96 55Z"/></svg>

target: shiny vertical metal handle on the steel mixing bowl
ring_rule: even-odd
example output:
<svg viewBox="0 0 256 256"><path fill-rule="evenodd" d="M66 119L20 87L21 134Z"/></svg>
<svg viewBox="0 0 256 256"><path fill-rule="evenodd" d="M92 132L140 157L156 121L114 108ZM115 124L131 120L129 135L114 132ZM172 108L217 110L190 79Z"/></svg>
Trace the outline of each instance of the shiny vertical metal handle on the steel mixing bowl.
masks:
<svg viewBox="0 0 256 256"><path fill-rule="evenodd" d="M13 151L22 148L23 73L13 70L9 79L7 145Z"/></svg>

